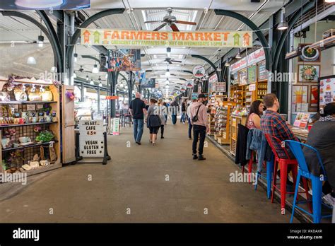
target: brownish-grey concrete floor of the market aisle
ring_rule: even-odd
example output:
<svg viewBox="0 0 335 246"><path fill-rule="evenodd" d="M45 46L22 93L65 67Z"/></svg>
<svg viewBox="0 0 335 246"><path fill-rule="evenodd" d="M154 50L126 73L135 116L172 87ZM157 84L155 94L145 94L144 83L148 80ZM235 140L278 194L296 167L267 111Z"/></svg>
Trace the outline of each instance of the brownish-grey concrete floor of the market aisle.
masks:
<svg viewBox="0 0 335 246"><path fill-rule="evenodd" d="M145 129L142 143L125 128L108 136L107 165L69 165L28 177L28 185L0 185L0 222L288 223L290 213L281 215L264 189L229 181L240 169L209 141L207 160L192 160L186 124L169 122L156 146Z"/></svg>

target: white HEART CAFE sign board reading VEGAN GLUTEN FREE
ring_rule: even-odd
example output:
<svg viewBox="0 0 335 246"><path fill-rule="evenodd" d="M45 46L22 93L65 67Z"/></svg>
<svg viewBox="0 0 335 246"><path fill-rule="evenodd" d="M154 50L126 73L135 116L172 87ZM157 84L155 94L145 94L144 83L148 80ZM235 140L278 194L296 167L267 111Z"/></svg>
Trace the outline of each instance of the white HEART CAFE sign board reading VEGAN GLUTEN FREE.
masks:
<svg viewBox="0 0 335 246"><path fill-rule="evenodd" d="M103 158L105 153L103 119L79 122L79 151L83 158Z"/></svg>

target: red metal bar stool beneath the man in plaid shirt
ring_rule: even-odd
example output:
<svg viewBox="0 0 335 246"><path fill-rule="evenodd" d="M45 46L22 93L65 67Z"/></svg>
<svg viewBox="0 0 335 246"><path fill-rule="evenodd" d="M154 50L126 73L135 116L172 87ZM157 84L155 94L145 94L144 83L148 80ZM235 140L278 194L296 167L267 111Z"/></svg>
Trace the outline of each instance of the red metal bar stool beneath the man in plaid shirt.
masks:
<svg viewBox="0 0 335 246"><path fill-rule="evenodd" d="M288 165L292 166L292 176L293 176L293 187L295 187L295 182L297 181L297 175L298 175L298 161L295 159L290 158L290 155L288 154L288 151L285 148L285 143L278 139L276 136L271 136L270 134L265 134L266 140L269 143L269 146L271 147L272 152L274 152L275 160L274 160L274 180L272 183L272 196L271 196L271 202L274 202L274 191L277 189L279 192L281 192L281 214L285 214L285 201L286 201L286 194L294 194L294 192L286 192L286 183L287 183L287 177L288 177ZM276 151L277 148L280 146L280 148L283 150L283 153L285 153L284 158L279 158L278 153ZM281 187L277 187L277 169L279 167L281 168ZM303 186L305 189L305 192L298 192L298 193L305 193L306 199L308 200L310 197L310 194L308 193L308 186L307 186L307 180L303 179ZM297 196L298 200L298 196ZM310 211L312 211L311 204L308 203Z"/></svg>

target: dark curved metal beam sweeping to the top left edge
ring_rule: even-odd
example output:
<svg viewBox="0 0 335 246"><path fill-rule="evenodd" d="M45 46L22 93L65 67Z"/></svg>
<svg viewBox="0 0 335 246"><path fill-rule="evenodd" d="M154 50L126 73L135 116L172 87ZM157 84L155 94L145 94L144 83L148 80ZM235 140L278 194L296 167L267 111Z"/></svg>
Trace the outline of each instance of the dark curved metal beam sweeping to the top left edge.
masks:
<svg viewBox="0 0 335 246"><path fill-rule="evenodd" d="M25 13L22 13L22 12L0 11L0 13L2 13L3 16L15 16L15 17L18 17L18 18L23 18L26 21L29 21L29 22L33 23L34 25L36 25L38 28L40 28L40 30L42 30L42 33L44 33L47 36L47 39L49 40L50 45L52 46L52 51L54 52L54 56L56 57L55 60L57 62L57 65L59 66L59 68L61 68L61 64L62 64L61 50L59 50L56 43L53 42L52 37L49 34L49 31L47 30L47 28L45 28L44 25L42 25L41 23L36 21L35 18L33 18L31 16L28 16Z"/></svg>

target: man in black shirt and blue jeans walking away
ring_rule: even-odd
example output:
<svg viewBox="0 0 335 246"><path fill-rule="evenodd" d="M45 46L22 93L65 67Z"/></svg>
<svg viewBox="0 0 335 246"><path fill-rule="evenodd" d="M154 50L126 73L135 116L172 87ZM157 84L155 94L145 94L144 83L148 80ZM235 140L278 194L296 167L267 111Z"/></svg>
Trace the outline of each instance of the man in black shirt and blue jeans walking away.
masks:
<svg viewBox="0 0 335 246"><path fill-rule="evenodd" d="M134 122L134 139L141 145L143 134L143 121L146 115L146 104L141 100L141 94L136 92L135 99L130 102L129 111Z"/></svg>

